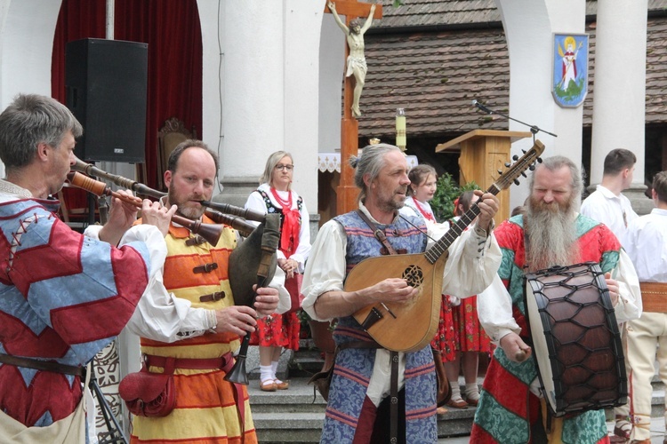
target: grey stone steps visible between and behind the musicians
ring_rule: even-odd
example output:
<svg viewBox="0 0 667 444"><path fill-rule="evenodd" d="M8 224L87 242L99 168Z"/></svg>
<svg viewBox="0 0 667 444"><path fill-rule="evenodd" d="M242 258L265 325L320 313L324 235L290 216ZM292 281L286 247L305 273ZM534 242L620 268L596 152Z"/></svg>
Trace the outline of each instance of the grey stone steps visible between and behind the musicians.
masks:
<svg viewBox="0 0 667 444"><path fill-rule="evenodd" d="M261 443L319 442L325 416L325 400L308 385L309 377L322 368L322 359L308 340L304 340L297 353L285 351L278 366L277 377L289 380L288 390L261 392L259 388L259 362L248 354L246 368L249 372L248 392L253 411L257 437ZM255 347L251 347L253 349ZM483 377L478 378L481 385ZM460 384L464 385L461 377ZM663 417L664 386L654 377L653 409L651 416ZM470 434L475 408L448 408L445 415L438 416L438 438L465 436ZM611 409L607 421L613 420Z"/></svg>

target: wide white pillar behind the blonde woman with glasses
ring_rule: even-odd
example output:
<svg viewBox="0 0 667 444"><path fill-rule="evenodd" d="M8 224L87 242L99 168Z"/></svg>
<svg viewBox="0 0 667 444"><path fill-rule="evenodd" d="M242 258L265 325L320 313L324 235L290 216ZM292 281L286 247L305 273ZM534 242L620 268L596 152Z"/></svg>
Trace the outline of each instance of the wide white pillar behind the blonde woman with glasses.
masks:
<svg viewBox="0 0 667 444"><path fill-rule="evenodd" d="M317 209L317 85L324 3L198 0L203 139L221 160L213 200L243 206L271 153L294 158L294 190Z"/></svg>

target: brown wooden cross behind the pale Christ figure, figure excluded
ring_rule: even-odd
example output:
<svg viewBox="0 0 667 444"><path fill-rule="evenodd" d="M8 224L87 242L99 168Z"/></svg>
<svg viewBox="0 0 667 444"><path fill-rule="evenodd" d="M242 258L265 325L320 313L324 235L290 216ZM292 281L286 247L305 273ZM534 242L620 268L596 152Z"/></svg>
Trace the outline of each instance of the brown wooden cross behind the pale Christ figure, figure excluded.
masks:
<svg viewBox="0 0 667 444"><path fill-rule="evenodd" d="M325 12L331 13L327 3L325 2ZM345 16L345 25L348 28L350 28L350 21L357 17L367 18L371 12L371 4L358 2L357 0L337 0L333 3L336 6L338 15ZM382 4L375 4L373 18L382 19ZM350 47L346 42L344 59L346 63L343 67L343 73L345 73L349 55ZM359 123L357 119L352 117L351 111L354 82L354 75L345 77L341 120L341 181L338 188L336 188L336 213L338 214L356 210L358 206L357 196L359 190L354 185L354 169L348 163L350 155L358 155L359 149Z"/></svg>

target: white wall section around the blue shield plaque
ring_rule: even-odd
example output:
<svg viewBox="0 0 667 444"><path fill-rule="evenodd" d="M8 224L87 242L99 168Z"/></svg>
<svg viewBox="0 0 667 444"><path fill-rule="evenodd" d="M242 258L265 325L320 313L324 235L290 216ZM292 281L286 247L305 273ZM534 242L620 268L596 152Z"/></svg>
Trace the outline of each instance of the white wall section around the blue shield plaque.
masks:
<svg viewBox="0 0 667 444"><path fill-rule="evenodd" d="M582 157L583 108L563 108L551 96L553 34L582 34L585 2L579 0L495 0L510 54L510 113L524 123L550 131L554 138L538 132L545 145L544 157ZM529 131L510 121L510 131ZM512 144L512 155L533 146L532 139ZM528 195L527 180L510 187L510 208L521 205Z"/></svg>

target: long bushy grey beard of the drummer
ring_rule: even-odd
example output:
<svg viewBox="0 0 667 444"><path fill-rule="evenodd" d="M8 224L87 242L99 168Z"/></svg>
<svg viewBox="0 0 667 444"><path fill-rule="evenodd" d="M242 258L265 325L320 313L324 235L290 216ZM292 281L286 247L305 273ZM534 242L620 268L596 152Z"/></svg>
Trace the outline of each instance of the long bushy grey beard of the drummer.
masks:
<svg viewBox="0 0 667 444"><path fill-rule="evenodd" d="M528 272L577 264L579 250L572 202L561 205L531 198L526 208L526 238Z"/></svg>

